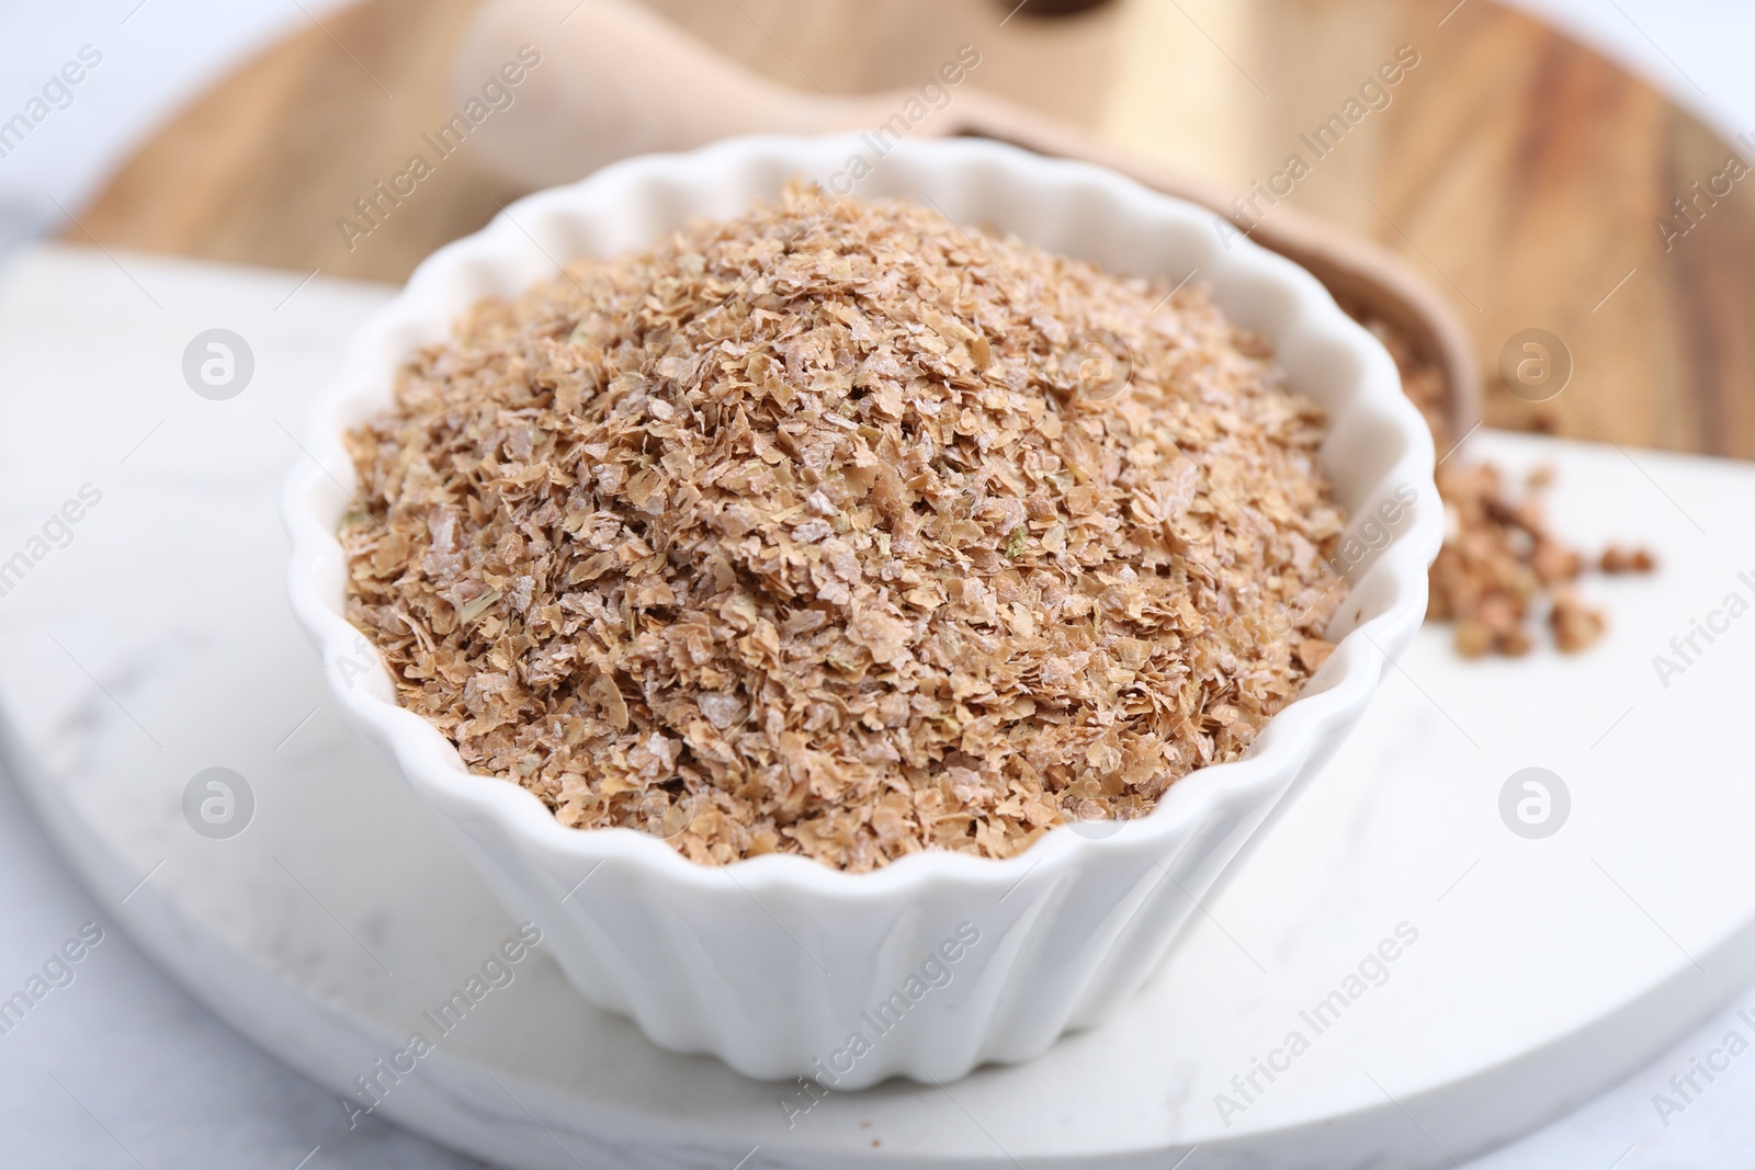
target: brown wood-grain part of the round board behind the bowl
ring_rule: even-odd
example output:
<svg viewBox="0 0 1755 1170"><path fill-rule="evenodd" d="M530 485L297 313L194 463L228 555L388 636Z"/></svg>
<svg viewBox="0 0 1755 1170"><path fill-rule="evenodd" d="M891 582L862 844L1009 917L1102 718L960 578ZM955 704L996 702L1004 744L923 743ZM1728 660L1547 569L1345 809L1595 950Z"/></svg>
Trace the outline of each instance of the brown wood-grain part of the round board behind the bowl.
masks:
<svg viewBox="0 0 1755 1170"><path fill-rule="evenodd" d="M1009 0L648 2L811 91L913 88L974 44L976 84L1241 196L1288 186L1276 174L1299 154L1290 202L1383 240L1457 307L1490 424L1755 456L1755 181L1732 182L1732 146L1650 84L1492 0L1114 0L1071 18L1007 18ZM369 240L337 230L451 114L472 7L365 0L307 21L149 139L68 237L405 277L523 193L462 151ZM1318 140L1402 46L1418 63L1388 103L1367 91L1381 109ZM1571 354L1544 403L1497 374L1530 328Z"/></svg>

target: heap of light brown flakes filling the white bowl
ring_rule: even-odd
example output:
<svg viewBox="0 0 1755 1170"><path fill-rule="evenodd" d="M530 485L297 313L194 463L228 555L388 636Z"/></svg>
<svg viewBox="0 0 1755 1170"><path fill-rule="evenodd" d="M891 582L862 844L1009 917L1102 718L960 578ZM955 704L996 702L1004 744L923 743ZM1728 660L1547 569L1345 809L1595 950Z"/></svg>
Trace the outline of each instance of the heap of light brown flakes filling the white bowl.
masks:
<svg viewBox="0 0 1755 1170"><path fill-rule="evenodd" d="M577 261L351 435L349 616L474 772L695 861L1143 816L1344 591L1322 414L1167 291L802 186Z"/></svg>

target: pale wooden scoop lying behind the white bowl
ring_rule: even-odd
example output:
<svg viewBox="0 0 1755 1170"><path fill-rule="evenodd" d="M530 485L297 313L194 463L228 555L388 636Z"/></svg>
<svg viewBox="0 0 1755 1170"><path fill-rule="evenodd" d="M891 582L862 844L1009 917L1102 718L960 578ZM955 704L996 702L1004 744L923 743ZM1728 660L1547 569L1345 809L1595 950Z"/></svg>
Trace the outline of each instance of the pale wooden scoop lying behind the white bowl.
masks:
<svg viewBox="0 0 1755 1170"><path fill-rule="evenodd" d="M746 133L835 133L888 121L914 93L825 98L777 86L725 60L628 0L486 0L458 51L458 109L481 91L521 46L542 53L518 86L493 133L472 139L479 158L507 179L546 188L598 167L655 151L686 151ZM1023 109L969 82L909 137L974 135L1039 154L1079 158L1150 188L1200 203L1246 226L1216 184L1128 158L1090 133ZM918 109L918 105L916 105ZM1250 239L1309 268L1348 310L1379 317L1406 337L1446 382L1450 433L1479 421L1479 375L1469 337L1395 256L1279 205Z"/></svg>

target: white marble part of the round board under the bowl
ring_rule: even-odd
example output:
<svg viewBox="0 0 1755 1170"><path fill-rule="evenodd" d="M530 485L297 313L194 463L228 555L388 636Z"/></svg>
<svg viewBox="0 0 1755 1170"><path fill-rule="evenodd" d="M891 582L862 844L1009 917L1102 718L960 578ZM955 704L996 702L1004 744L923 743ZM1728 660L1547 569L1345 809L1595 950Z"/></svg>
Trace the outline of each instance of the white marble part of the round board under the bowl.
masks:
<svg viewBox="0 0 1755 1170"><path fill-rule="evenodd" d="M388 296L302 277L67 247L9 268L0 565L30 563L0 577L0 723L116 919L344 1110L516 924L342 726L284 602L276 495L302 405ZM183 374L211 328L254 358L228 400ZM1583 656L1464 663L1425 631L1116 1023L956 1084L830 1095L788 1126L790 1086L651 1047L535 947L379 1079L377 1116L519 1168L1422 1166L1637 1068L1755 977L1755 617L1727 602L1755 602L1755 468L1490 433L1471 451L1555 463L1564 528L1650 546L1662 572L1590 586L1613 628ZM1660 677L1655 654L1683 670ZM212 767L254 802L230 838L183 809ZM1571 796L1546 838L1501 819L1527 767ZM1351 982L1397 931L1395 960ZM1336 991L1357 995L1318 1033L1304 1014Z"/></svg>

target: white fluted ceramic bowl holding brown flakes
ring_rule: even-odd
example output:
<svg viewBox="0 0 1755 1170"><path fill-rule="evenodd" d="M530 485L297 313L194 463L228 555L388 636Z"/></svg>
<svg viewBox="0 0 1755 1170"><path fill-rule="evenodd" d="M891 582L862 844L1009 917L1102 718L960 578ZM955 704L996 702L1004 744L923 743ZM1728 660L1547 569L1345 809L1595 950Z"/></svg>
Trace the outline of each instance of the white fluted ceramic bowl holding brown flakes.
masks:
<svg viewBox="0 0 1755 1170"><path fill-rule="evenodd" d="M335 530L355 474L340 433L390 405L404 358L446 339L477 298L516 295L567 258L641 247L691 216L734 216L790 175L830 181L855 154L869 156L856 137L741 139L635 158L519 200L437 251L360 326L309 417L321 467L302 461L284 498L293 609L340 709L455 830L512 914L542 928L574 986L663 1047L832 1089L1028 1059L1123 1005L1195 900L1353 728L1385 654L1425 614L1443 528L1432 440L1395 365L1307 272L1248 240L1227 246L1211 212L1095 167L981 140L904 142L856 195L930 198L958 223L1113 272L1179 281L1197 268L1232 319L1272 339L1292 384L1329 410L1323 461L1353 530L1371 535L1353 546L1362 553L1329 631L1334 656L1243 760L1193 772L1146 817L1057 828L1006 861L923 853L842 874L763 856L709 868L632 830L563 828L516 784L469 774L449 740L397 705L388 672L342 616ZM1399 523L1369 526L1397 493L1413 496Z"/></svg>

